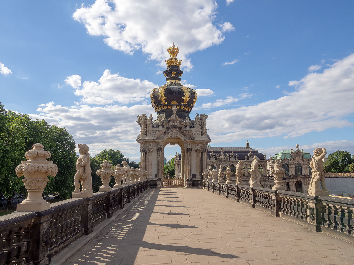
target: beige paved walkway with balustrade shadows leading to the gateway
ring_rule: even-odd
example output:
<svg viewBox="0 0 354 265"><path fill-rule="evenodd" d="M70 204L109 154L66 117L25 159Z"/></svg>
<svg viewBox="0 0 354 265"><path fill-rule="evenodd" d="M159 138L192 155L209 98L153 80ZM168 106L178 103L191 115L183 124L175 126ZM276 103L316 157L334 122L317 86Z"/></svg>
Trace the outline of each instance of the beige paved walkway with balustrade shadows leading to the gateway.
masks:
<svg viewBox="0 0 354 265"><path fill-rule="evenodd" d="M65 265L354 264L351 243L202 189L144 196Z"/></svg>

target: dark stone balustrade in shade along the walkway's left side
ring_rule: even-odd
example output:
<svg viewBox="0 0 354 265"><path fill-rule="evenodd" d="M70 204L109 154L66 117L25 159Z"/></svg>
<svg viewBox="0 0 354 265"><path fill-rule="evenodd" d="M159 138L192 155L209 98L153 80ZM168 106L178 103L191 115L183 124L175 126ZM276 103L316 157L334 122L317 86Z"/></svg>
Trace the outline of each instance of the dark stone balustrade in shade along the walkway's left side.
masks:
<svg viewBox="0 0 354 265"><path fill-rule="evenodd" d="M41 212L13 212L0 217L0 265L50 264L67 248L149 188L149 181L72 198Z"/></svg>

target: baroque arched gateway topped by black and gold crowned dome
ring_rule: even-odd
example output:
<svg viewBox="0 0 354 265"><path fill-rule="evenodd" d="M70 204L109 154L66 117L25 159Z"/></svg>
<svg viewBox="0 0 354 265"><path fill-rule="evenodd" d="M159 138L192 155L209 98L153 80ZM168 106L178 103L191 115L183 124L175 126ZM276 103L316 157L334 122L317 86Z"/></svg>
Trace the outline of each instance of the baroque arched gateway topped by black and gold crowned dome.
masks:
<svg viewBox="0 0 354 265"><path fill-rule="evenodd" d="M167 51L171 58L166 60L166 84L150 93L151 104L158 116L156 120L151 114L149 118L146 114L138 116L141 130L136 140L140 143L140 161L148 172L150 186L162 187L164 148L168 144L177 144L182 150L181 176L185 179L185 187L198 186L206 168L207 144L211 142L206 134L207 115L196 114L195 120L190 119L197 93L181 84L183 71L179 68L181 60L176 58L178 47L173 45Z"/></svg>

